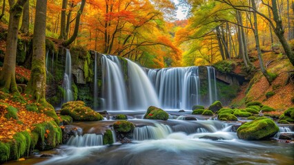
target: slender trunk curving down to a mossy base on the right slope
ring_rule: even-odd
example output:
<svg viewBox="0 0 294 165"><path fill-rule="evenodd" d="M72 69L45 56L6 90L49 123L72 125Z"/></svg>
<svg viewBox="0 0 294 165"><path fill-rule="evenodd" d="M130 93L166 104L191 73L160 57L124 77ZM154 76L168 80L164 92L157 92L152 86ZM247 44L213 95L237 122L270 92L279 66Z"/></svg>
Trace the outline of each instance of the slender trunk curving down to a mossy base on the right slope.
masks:
<svg viewBox="0 0 294 165"><path fill-rule="evenodd" d="M251 0L251 3L252 3L253 9L256 9L255 0ZM255 36L255 47L256 47L256 50L257 50L259 66L260 66L260 69L262 70L262 74L266 77L266 80L268 80L268 83L271 85L271 83L273 82L273 76L270 76L268 74L268 72L266 71L266 68L264 67L264 61L262 59L262 51L260 50L260 47L259 47L259 36L258 36L257 14L256 14L256 12L253 12L253 18L254 18L253 33L254 33L254 36Z"/></svg>

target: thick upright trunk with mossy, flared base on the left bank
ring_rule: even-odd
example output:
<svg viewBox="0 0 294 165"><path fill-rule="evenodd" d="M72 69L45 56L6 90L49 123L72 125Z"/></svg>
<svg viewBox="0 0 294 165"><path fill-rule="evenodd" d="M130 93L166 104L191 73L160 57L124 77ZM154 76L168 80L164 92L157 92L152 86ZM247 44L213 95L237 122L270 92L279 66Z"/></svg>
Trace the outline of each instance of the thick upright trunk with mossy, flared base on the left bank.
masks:
<svg viewBox="0 0 294 165"><path fill-rule="evenodd" d="M46 96L46 10L47 0L37 0L34 36L32 37L32 72L26 89L37 102Z"/></svg>

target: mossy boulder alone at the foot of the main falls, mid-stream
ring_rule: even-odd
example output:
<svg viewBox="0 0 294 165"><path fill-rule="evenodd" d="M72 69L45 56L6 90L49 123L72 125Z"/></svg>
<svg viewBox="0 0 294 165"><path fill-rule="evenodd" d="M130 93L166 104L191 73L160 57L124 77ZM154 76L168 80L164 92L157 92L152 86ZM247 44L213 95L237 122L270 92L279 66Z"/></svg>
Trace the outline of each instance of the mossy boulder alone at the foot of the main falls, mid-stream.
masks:
<svg viewBox="0 0 294 165"><path fill-rule="evenodd" d="M144 115L144 119L168 120L168 113L157 107L150 106Z"/></svg>

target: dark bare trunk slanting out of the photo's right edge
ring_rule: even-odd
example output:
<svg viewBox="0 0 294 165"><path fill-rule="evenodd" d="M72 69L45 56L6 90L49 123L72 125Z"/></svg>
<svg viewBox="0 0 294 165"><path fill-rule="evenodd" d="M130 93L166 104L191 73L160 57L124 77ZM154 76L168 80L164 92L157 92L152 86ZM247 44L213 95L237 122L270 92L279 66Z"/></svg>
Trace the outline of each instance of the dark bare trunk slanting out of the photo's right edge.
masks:
<svg viewBox="0 0 294 165"><path fill-rule="evenodd" d="M284 36L282 19L280 19L279 13L277 11L277 1L272 0L271 3L272 3L272 11L273 11L273 20L275 21L275 29L273 30L273 32L275 32L275 35L277 35L277 38L279 39L280 43L282 44L282 47L284 48L286 55L289 58L289 61L294 66L294 52L291 50L291 47L288 44L288 41L286 41Z"/></svg>

